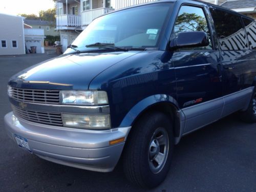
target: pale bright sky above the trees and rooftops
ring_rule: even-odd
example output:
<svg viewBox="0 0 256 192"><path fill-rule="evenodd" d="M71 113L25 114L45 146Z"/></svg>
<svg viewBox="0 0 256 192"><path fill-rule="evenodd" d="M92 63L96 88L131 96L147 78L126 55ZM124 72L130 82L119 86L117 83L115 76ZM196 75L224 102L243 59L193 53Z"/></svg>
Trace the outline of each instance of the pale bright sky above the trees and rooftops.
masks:
<svg viewBox="0 0 256 192"><path fill-rule="evenodd" d="M52 0L0 0L0 13L17 15L36 14L41 10L54 8Z"/></svg>

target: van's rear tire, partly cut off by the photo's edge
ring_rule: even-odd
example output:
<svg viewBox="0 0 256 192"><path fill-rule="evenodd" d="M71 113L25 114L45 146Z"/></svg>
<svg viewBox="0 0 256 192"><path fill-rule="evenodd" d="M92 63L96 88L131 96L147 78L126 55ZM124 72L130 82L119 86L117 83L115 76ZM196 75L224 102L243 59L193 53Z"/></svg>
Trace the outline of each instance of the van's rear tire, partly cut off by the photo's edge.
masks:
<svg viewBox="0 0 256 192"><path fill-rule="evenodd" d="M248 109L244 112L240 112L239 116L242 121L256 123L256 91L254 91Z"/></svg>

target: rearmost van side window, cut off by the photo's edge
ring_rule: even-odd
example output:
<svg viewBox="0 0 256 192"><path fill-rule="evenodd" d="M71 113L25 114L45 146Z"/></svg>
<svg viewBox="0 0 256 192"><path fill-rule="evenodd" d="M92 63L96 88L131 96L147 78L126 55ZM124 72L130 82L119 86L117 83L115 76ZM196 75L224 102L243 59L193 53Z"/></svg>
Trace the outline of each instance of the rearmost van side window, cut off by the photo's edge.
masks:
<svg viewBox="0 0 256 192"><path fill-rule="evenodd" d="M249 40L250 49L256 50L256 22L243 17L245 31Z"/></svg>

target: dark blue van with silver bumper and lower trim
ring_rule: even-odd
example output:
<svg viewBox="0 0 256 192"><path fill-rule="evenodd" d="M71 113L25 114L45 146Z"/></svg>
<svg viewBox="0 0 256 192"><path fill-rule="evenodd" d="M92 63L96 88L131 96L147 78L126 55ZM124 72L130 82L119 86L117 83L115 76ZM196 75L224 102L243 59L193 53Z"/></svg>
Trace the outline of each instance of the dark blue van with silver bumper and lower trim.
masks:
<svg viewBox="0 0 256 192"><path fill-rule="evenodd" d="M63 55L10 79L6 131L63 165L111 172L122 155L128 179L155 187L182 136L234 112L256 122L255 31L189 0L98 17Z"/></svg>

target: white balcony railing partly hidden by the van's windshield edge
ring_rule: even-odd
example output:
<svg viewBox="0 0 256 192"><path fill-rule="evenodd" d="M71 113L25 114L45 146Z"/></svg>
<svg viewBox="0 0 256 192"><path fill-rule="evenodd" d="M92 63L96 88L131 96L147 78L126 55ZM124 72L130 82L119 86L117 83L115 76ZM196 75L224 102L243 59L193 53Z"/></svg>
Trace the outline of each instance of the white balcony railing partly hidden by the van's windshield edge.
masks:
<svg viewBox="0 0 256 192"><path fill-rule="evenodd" d="M93 21L93 19L114 10L115 9L112 8L99 8L91 9L88 11L82 11L82 26L87 26Z"/></svg>

